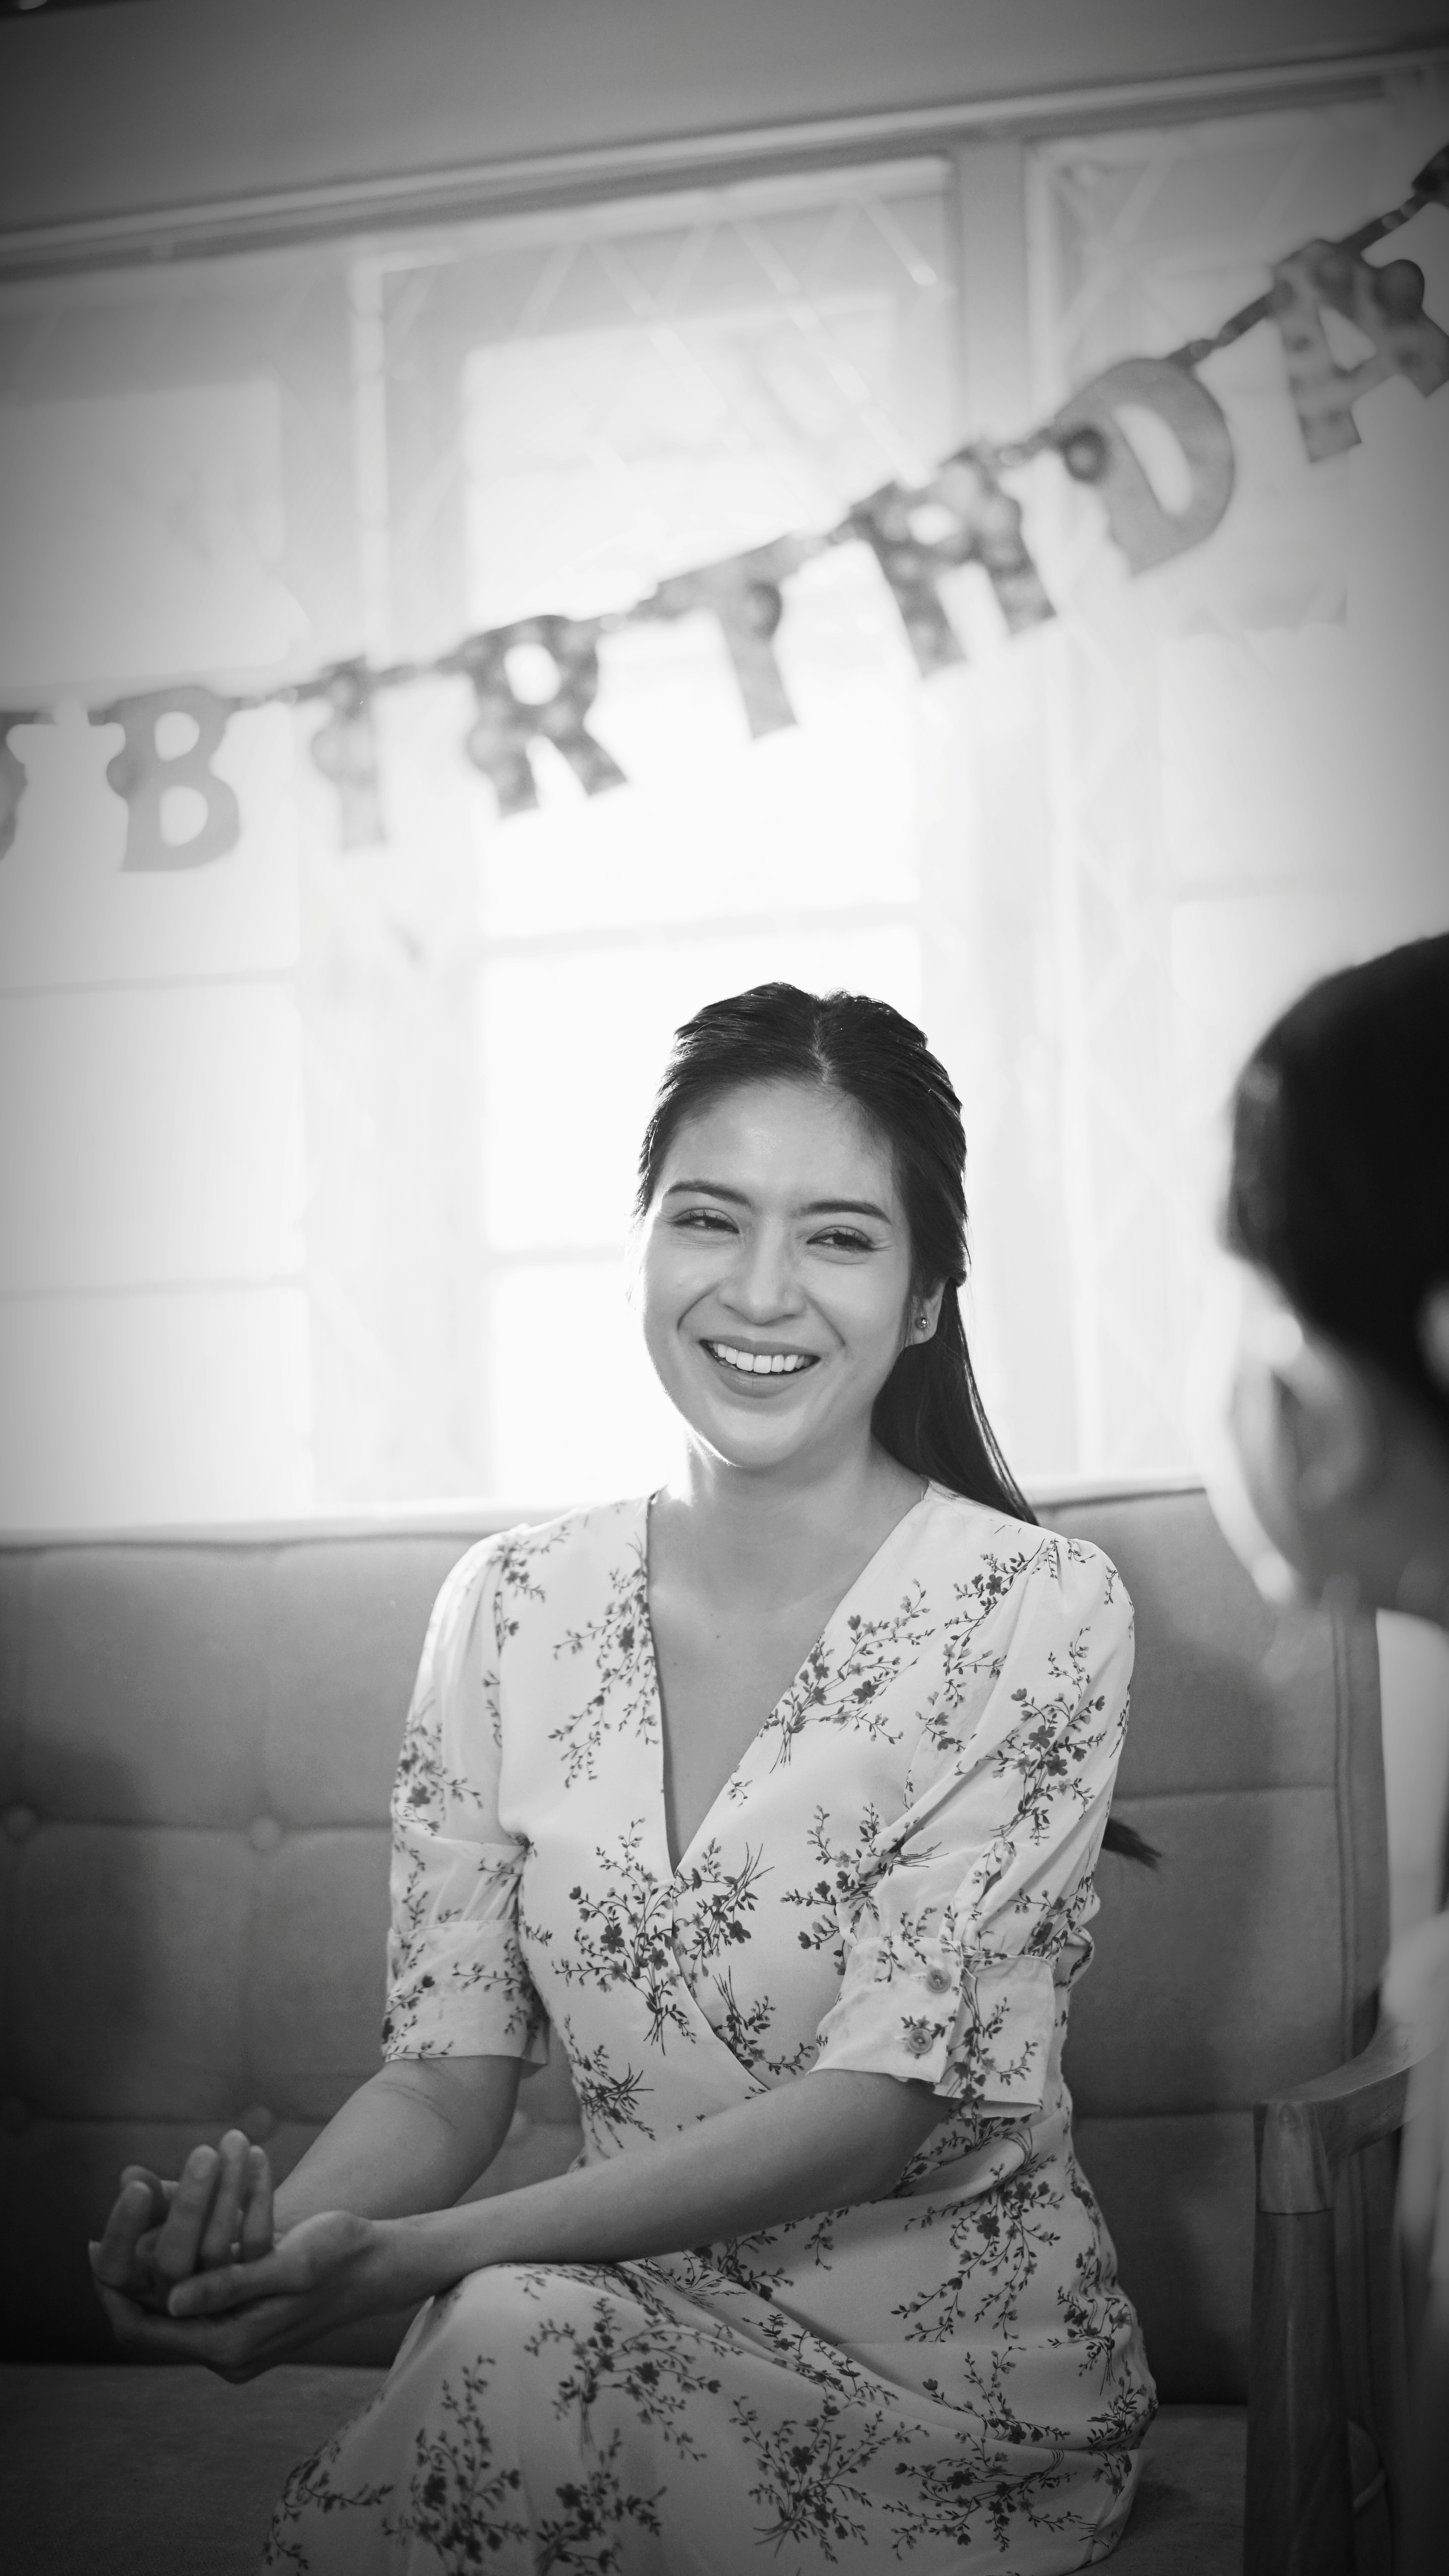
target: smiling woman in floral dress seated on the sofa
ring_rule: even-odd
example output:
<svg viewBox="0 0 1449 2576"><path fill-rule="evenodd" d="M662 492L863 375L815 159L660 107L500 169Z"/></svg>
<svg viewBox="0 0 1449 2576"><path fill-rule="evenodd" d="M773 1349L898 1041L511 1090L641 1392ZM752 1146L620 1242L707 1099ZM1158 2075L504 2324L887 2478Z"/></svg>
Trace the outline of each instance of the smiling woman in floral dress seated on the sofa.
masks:
<svg viewBox="0 0 1449 2576"><path fill-rule="evenodd" d="M268 2566L1047 2576L1127 2524L1152 2383L1062 2038L1132 1605L990 1437L962 1159L884 1002L678 1030L637 1291L686 1463L443 1587L384 2071L276 2200L235 2130L95 2249L124 2342L240 2378L425 2300ZM583 2164L456 2205L549 2025Z"/></svg>

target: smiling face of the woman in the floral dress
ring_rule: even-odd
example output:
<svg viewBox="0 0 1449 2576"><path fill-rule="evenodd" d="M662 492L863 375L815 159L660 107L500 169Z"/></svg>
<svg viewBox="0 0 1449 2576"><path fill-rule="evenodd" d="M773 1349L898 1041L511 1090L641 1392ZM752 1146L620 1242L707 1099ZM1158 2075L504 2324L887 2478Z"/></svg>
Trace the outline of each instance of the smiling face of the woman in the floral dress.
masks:
<svg viewBox="0 0 1449 2576"><path fill-rule="evenodd" d="M645 1342L717 1458L866 1450L908 1298L892 1157L841 1092L750 1082L678 1128L645 1218Z"/></svg>

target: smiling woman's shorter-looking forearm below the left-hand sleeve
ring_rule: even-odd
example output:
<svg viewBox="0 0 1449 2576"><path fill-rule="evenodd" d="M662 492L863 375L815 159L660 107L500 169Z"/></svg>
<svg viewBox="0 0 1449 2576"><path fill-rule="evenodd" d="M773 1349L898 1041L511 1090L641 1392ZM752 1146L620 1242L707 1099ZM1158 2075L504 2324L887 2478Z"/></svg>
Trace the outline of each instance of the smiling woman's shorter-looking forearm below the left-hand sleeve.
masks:
<svg viewBox="0 0 1449 2576"><path fill-rule="evenodd" d="M446 2210L492 2164L518 2058L394 2058L343 2102L276 2192L278 2231L317 2210Z"/></svg>

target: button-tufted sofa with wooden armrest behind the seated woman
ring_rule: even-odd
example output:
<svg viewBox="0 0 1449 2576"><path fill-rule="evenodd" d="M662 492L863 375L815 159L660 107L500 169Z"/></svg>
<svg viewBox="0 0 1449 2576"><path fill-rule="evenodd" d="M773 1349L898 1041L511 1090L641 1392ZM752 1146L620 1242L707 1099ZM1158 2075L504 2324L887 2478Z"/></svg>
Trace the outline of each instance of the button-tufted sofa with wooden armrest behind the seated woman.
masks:
<svg viewBox="0 0 1449 2576"><path fill-rule="evenodd" d="M1253 2102L1364 2045L1385 1953L1372 1628L1274 1618L1199 1492L1044 1499L1137 1602L1119 1814L1073 2004L1080 2159L1165 2411L1116 2566L1240 2561ZM376 2066L387 1793L431 1600L500 1515L0 1546L5 2483L23 2576L250 2568L286 2465L402 2318L232 2391L119 2365L85 2239L129 2159L242 2120L286 2169ZM559 2172L567 2074L523 2084L480 2190ZM1361 2308L1364 2192L1338 2215ZM1372 2491L1372 2354L1348 2334ZM1374 2509L1359 2566L1374 2566Z"/></svg>

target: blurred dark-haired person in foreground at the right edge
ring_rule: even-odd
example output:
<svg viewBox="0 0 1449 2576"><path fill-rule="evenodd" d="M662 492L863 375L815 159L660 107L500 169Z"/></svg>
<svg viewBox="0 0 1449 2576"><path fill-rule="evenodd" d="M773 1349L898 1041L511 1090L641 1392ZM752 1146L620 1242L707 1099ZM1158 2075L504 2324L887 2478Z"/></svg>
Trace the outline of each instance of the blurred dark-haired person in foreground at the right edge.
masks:
<svg viewBox="0 0 1449 2576"><path fill-rule="evenodd" d="M1217 1314L1217 1517L1269 1600L1449 1631L1449 935L1315 984L1232 1103ZM1444 1888L1441 1888L1444 1899ZM1400 2236L1413 2367L1395 2566L1449 2563L1449 1911L1403 1940L1385 2012L1426 2043Z"/></svg>

